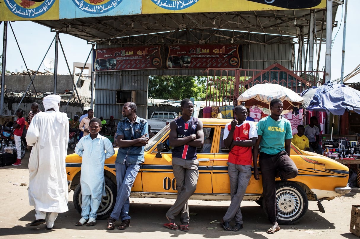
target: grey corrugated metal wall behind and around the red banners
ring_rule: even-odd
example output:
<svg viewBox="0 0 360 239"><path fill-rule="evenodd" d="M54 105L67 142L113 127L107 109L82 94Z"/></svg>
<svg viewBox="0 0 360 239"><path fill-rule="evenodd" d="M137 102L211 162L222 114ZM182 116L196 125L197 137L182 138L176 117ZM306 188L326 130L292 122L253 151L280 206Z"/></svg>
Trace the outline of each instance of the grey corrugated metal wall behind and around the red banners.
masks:
<svg viewBox="0 0 360 239"><path fill-rule="evenodd" d="M225 32L229 37L232 32ZM151 36L149 44L151 44ZM184 37L184 35L179 35ZM186 34L186 37L194 37ZM200 36L195 36L200 37ZM279 36L262 35L262 34L244 34L240 39L243 46L242 64L243 69L262 70L278 62L287 69L292 70L292 49L293 42L289 38L285 43L273 43L272 41ZM213 38L213 39L212 39ZM195 39L195 38L194 38ZM193 40L194 40L193 39ZM213 40L213 41L211 41ZM216 42L213 36L209 42ZM230 42L229 42L230 43ZM130 45L129 45L130 46ZM113 48L121 47L120 45L99 44L96 48ZM123 46L125 47L125 46ZM95 85L95 117L103 116L108 120L112 115L115 120L122 119L122 103L117 103L117 91L135 91L135 99L132 99L138 106L138 116L147 118L147 98L148 98L148 76L149 75L191 75L202 76L205 69L154 69L154 70L130 70L114 72L96 72Z"/></svg>

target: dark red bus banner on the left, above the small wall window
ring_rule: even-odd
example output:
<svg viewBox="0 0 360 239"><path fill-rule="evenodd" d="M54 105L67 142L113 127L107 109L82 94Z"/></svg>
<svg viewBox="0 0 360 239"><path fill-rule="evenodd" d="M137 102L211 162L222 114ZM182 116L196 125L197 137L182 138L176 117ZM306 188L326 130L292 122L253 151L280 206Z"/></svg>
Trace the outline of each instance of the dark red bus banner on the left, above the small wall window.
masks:
<svg viewBox="0 0 360 239"><path fill-rule="evenodd" d="M161 68L161 46L95 49L93 71L119 71Z"/></svg>

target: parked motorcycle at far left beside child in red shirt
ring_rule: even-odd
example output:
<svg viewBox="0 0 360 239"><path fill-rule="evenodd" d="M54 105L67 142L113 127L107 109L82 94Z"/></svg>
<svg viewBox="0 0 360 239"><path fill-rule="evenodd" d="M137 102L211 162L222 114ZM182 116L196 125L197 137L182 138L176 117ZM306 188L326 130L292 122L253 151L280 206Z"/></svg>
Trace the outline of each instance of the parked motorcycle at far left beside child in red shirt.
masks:
<svg viewBox="0 0 360 239"><path fill-rule="evenodd" d="M17 155L16 145L14 141L14 134L9 127L0 125L0 153L10 153ZM21 158L24 158L26 152L26 145L21 139Z"/></svg>

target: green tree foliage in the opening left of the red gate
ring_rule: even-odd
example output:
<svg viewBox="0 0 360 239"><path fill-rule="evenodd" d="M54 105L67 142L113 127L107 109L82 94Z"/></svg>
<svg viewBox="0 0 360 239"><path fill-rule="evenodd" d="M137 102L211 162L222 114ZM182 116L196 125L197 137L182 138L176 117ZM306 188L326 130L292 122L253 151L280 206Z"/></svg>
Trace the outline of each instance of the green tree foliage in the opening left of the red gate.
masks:
<svg viewBox="0 0 360 239"><path fill-rule="evenodd" d="M177 99L205 97L206 79L194 76L149 76L149 97L156 99Z"/></svg>

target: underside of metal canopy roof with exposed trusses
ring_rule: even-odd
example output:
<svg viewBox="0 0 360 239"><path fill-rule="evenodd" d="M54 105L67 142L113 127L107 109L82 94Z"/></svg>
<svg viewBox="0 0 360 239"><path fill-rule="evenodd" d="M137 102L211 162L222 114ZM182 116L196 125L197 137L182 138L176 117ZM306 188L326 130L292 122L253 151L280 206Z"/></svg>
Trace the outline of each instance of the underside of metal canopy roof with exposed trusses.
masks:
<svg viewBox="0 0 360 239"><path fill-rule="evenodd" d="M336 27L336 11L342 2L333 3L333 27ZM174 13L174 14L143 14L116 17L94 17L61 20L41 20L36 23L51 28L53 32L67 33L81 38L90 43L112 44L148 44L176 42L178 39L171 36L174 33L186 32L202 33L204 41L187 43L208 43L207 38L211 34L221 42L229 39L228 34L219 32L234 31L233 37L243 38L247 33L276 34L280 36L307 37L309 32L311 10L272 10L272 11L244 11L244 12L222 12L222 13ZM320 40L320 32L324 31L326 36L326 10L317 9L315 12L316 39ZM325 20L324 20L325 19ZM323 28L323 29L321 29ZM218 29L218 31L213 31ZM206 31L207 30L207 31ZM140 36L152 34L156 37L149 38ZM223 37L225 36L225 37ZM223 38L223 39L221 39ZM322 41L324 41L323 37ZM170 39L170 41L168 41ZM279 41L283 41L280 37ZM274 42L273 42L274 43Z"/></svg>

